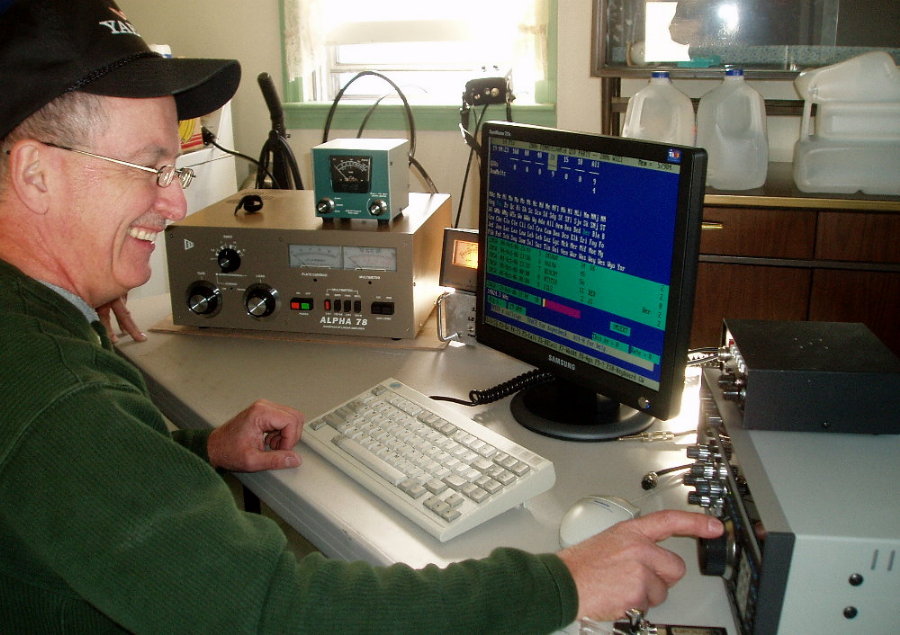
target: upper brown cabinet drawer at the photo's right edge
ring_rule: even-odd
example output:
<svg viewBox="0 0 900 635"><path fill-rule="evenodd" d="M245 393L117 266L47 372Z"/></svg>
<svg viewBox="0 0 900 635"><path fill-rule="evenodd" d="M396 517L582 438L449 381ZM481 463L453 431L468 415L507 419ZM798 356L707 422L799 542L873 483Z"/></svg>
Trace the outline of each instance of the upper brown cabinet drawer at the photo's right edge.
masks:
<svg viewBox="0 0 900 635"><path fill-rule="evenodd" d="M900 262L900 214L820 212L816 258Z"/></svg>

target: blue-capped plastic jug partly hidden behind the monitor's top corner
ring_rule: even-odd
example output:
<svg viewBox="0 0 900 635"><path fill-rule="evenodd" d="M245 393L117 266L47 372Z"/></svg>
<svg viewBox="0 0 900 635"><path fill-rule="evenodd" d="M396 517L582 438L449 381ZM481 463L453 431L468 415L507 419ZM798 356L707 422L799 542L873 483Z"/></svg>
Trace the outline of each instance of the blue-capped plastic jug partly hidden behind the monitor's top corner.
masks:
<svg viewBox="0 0 900 635"><path fill-rule="evenodd" d="M669 73L653 71L650 83L628 100L622 136L674 145L694 145L694 107Z"/></svg>

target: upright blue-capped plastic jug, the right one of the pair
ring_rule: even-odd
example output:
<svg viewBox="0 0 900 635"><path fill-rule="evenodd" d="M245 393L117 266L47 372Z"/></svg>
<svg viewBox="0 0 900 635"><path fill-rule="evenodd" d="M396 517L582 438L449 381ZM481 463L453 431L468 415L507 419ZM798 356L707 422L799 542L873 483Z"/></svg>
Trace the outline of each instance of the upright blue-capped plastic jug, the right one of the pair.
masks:
<svg viewBox="0 0 900 635"><path fill-rule="evenodd" d="M744 71L727 70L722 83L700 98L697 145L709 154L707 185L750 190L766 182L766 105L762 95L744 81Z"/></svg>

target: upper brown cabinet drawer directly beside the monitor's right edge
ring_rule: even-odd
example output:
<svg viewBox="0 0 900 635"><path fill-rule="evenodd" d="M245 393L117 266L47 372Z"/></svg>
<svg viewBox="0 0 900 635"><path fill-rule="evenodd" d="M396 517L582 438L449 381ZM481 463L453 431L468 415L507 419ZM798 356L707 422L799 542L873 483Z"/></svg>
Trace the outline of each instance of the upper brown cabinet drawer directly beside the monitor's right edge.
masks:
<svg viewBox="0 0 900 635"><path fill-rule="evenodd" d="M761 258L812 258L816 213L785 209L709 207L700 253ZM710 228L713 224L715 229Z"/></svg>

